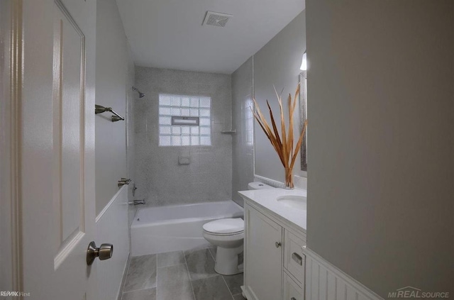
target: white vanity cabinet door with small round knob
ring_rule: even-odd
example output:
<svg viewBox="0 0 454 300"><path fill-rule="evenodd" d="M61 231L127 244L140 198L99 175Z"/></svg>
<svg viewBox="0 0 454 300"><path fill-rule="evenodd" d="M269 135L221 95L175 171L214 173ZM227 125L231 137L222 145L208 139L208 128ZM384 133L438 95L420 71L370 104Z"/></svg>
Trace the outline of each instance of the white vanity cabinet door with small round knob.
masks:
<svg viewBox="0 0 454 300"><path fill-rule="evenodd" d="M282 299L282 227L246 206L245 284L249 300Z"/></svg>

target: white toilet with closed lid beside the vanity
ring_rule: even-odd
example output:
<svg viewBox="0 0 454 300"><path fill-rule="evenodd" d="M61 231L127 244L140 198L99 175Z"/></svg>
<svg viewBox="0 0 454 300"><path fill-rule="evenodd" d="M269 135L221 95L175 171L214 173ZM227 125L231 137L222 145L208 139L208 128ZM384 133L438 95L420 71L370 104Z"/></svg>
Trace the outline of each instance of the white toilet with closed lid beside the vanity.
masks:
<svg viewBox="0 0 454 300"><path fill-rule="evenodd" d="M250 182L248 189L274 189L262 182ZM221 218L205 223L204 238L217 247L214 270L218 274L233 275L243 272L243 264L238 257L243 253L243 218Z"/></svg>

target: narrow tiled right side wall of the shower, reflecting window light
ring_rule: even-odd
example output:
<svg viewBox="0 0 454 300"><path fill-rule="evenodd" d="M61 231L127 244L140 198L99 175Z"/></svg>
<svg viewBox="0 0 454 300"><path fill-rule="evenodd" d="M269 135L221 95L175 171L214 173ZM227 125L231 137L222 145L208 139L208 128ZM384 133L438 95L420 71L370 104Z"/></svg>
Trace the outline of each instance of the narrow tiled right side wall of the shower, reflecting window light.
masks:
<svg viewBox="0 0 454 300"><path fill-rule="evenodd" d="M253 57L232 74L232 199L243 206L238 191L248 189L254 179L253 116L249 109L253 101Z"/></svg>

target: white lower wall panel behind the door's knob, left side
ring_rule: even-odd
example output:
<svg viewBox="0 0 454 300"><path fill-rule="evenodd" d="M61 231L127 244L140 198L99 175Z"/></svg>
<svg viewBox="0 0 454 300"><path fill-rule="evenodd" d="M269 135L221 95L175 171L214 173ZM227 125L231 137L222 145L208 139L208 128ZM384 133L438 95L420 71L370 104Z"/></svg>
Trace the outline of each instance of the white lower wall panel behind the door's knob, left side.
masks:
<svg viewBox="0 0 454 300"><path fill-rule="evenodd" d="M96 246L114 245L109 260L97 260L98 299L115 300L121 291L129 255L128 185L124 185L96 217Z"/></svg>

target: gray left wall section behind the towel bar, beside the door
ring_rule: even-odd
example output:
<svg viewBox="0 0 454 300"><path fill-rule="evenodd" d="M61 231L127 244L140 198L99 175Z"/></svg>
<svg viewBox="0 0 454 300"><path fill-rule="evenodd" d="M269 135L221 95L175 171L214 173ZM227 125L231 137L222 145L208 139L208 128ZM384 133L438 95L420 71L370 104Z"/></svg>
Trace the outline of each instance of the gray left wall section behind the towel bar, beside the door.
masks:
<svg viewBox="0 0 454 300"><path fill-rule="evenodd" d="M96 36L96 104L125 116L131 88L128 41L115 0L96 1ZM128 176L126 122L112 123L110 117L111 113L96 115L96 214L118 191L118 179Z"/></svg>

